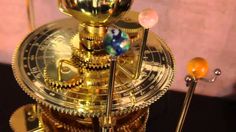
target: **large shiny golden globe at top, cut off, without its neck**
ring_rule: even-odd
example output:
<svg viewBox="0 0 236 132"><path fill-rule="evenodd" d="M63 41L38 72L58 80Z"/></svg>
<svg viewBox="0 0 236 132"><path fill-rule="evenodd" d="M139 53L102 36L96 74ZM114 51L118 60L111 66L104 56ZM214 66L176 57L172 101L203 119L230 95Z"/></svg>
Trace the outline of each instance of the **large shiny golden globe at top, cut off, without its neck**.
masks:
<svg viewBox="0 0 236 132"><path fill-rule="evenodd" d="M117 21L133 0L58 0L59 9L87 26L107 26Z"/></svg>

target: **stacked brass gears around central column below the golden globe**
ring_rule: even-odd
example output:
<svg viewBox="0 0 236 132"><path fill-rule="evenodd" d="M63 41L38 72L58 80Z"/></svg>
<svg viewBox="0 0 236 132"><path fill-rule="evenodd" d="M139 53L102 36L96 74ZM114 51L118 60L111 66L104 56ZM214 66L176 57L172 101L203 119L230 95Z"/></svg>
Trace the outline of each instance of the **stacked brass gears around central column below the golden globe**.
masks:
<svg viewBox="0 0 236 132"><path fill-rule="evenodd" d="M99 46L102 43L102 40L90 38L89 40L85 41L83 40L84 37L81 37L81 34L83 33L77 34L71 39L73 50L72 61L78 66L84 66L91 70L108 69L110 66L109 55L106 54L102 46ZM88 43L92 44L93 48L88 48L88 45L85 45Z"/></svg>

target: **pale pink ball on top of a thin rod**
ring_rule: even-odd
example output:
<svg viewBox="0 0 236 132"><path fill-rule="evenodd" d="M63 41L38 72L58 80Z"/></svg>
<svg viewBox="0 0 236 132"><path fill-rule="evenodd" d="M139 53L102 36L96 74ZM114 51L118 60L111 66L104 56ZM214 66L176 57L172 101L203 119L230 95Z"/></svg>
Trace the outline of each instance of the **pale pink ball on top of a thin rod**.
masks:
<svg viewBox="0 0 236 132"><path fill-rule="evenodd" d="M146 29L152 28L158 22L158 14L153 9L144 9L139 14L139 23Z"/></svg>

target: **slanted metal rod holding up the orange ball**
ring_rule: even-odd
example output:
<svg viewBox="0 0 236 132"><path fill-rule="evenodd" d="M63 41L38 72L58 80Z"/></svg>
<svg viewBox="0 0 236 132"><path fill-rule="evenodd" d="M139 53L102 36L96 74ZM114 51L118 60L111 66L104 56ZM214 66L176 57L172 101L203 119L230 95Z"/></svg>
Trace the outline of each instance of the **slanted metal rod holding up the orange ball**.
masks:
<svg viewBox="0 0 236 132"><path fill-rule="evenodd" d="M179 117L178 125L176 127L176 132L182 132L183 125L184 125L184 122L185 122L185 118L186 118L186 115L188 113L189 105L191 103L192 96L194 94L196 86L197 86L197 81L195 79L193 79L192 82L190 82L189 90L186 93L186 96L185 96L185 99L184 99L181 115Z"/></svg>

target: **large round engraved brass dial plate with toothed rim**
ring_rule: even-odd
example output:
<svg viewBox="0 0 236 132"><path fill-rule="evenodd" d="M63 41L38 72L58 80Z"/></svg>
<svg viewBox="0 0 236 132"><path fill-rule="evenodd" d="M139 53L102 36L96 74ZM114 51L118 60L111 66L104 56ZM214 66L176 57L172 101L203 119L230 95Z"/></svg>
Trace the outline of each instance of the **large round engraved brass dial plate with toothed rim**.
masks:
<svg viewBox="0 0 236 132"><path fill-rule="evenodd" d="M74 89L56 90L45 83L45 67L56 67L59 60L71 59L70 40L77 33L77 25L74 19L64 19L29 34L15 53L13 71L23 90L38 102L73 115L100 116L106 108L107 85L81 85ZM140 41L133 45L135 43ZM131 50L137 53L139 49ZM128 65L132 66L135 64ZM100 74L99 71L93 72ZM127 80L125 75L117 77L120 81L116 82L113 94L112 114L119 115L150 105L167 91L173 76L174 62L169 48L151 33L141 76L126 82L123 82Z"/></svg>

